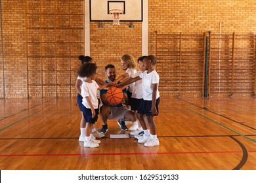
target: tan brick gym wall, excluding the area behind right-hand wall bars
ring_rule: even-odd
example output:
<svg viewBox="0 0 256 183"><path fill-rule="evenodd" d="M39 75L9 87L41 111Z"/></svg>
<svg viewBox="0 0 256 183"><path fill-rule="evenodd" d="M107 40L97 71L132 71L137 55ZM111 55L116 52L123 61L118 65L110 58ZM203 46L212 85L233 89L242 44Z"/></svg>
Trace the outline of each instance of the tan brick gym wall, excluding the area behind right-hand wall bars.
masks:
<svg viewBox="0 0 256 183"><path fill-rule="evenodd" d="M83 3L82 0L1 1L1 98L75 96L75 71L80 64L77 56L84 54ZM256 33L256 1L148 0L148 3L148 54L156 54L155 31L218 34L221 22L222 34ZM104 66L108 63L116 65L117 75L123 73L119 61L123 54L141 56L142 25L141 22L134 25L129 28L129 22L121 22L119 26L103 22L99 28L96 22L91 22L91 57L96 59L100 77L105 78Z"/></svg>

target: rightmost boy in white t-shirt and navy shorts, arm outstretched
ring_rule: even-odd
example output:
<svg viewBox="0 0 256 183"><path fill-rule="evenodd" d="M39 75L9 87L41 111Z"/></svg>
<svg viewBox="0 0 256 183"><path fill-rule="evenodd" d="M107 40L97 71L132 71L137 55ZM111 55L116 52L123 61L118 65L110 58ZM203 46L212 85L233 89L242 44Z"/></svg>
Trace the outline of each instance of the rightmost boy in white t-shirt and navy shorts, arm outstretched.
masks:
<svg viewBox="0 0 256 183"><path fill-rule="evenodd" d="M144 73L141 73L139 76L131 78L126 82L118 84L119 87L122 87L142 79L143 100L139 105L137 117L139 118L144 131L144 135L138 142L144 143L144 146L159 146L160 144L156 135L156 124L154 122L154 116L157 116L159 113L158 105L160 103L160 93L158 91L160 78L158 73L154 70L156 62L157 60L155 56L147 56L143 59L143 65L146 69ZM146 114L148 119L151 134L143 118L144 114Z"/></svg>

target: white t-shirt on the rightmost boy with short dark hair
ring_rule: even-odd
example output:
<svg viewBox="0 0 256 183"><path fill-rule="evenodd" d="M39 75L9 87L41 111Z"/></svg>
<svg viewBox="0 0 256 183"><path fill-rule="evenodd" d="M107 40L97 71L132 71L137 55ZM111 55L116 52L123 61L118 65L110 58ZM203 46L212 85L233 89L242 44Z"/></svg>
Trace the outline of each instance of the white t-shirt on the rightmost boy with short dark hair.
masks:
<svg viewBox="0 0 256 183"><path fill-rule="evenodd" d="M159 83L159 75L156 73L156 70L148 73L148 71L144 71L144 73L140 74L140 78L142 78L142 89L143 89L143 99L145 101L152 101L153 88L152 84ZM160 93L156 91L156 99L160 97Z"/></svg>

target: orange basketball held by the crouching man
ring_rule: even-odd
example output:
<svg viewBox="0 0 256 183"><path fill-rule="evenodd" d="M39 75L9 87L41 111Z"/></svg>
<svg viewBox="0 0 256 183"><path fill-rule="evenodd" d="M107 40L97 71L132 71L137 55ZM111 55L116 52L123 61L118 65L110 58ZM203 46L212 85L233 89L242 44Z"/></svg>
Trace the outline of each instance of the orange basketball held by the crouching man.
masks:
<svg viewBox="0 0 256 183"><path fill-rule="evenodd" d="M117 105L123 101L123 91L120 88L116 88L115 86L112 86L108 88L108 91L106 92L106 97L112 105Z"/></svg>

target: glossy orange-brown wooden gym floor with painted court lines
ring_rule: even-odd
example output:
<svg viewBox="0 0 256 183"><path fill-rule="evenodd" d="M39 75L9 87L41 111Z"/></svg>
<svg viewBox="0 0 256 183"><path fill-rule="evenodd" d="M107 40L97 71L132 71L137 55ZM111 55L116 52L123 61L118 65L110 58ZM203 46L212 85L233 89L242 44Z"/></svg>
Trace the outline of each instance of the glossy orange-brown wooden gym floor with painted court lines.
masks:
<svg viewBox="0 0 256 183"><path fill-rule="evenodd" d="M133 137L110 139L125 133L116 120L98 148L84 148L75 99L1 99L0 108L2 170L256 169L255 97L162 98L160 146L150 148Z"/></svg>

